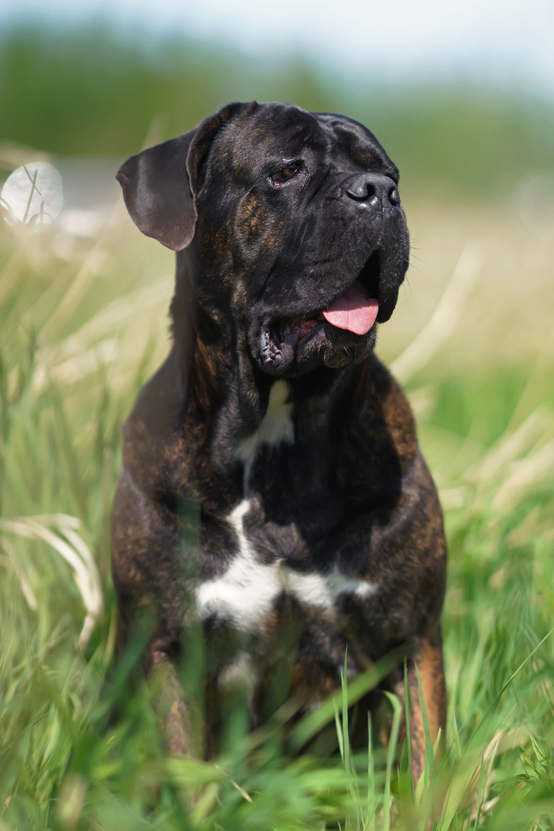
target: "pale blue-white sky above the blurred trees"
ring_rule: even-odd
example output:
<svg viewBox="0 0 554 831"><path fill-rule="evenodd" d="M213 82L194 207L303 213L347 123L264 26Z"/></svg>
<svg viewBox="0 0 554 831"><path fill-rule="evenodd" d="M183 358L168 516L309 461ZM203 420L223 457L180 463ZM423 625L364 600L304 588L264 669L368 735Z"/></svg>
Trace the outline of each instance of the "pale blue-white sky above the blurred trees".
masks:
<svg viewBox="0 0 554 831"><path fill-rule="evenodd" d="M301 52L392 82L461 74L554 100L554 0L0 0L0 29L98 12L131 36L142 27L258 55Z"/></svg>

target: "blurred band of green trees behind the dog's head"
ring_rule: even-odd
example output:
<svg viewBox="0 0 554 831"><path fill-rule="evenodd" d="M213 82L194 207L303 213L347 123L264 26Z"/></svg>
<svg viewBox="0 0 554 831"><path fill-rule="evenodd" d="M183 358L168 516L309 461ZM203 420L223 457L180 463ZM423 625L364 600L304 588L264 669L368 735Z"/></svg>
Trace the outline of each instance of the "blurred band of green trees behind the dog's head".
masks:
<svg viewBox="0 0 554 831"><path fill-rule="evenodd" d="M108 19L80 27L20 23L0 36L0 139L56 155L125 156L147 135L188 130L227 101L292 101L362 121L403 171L404 192L480 200L554 170L554 107L492 86L385 87L301 57L248 57L216 42Z"/></svg>

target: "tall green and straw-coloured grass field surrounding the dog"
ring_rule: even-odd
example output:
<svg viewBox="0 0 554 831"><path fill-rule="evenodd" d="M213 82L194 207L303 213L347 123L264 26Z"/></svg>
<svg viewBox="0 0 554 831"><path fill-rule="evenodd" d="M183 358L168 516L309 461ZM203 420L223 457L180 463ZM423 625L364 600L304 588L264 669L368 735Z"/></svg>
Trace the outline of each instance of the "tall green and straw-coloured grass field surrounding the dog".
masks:
<svg viewBox="0 0 554 831"><path fill-rule="evenodd" d="M95 243L0 228L0 831L554 829L552 240L506 233L502 209L412 213L381 353L449 537L446 752L415 787L406 748L351 752L346 693L318 716L331 760L283 754L285 713L255 735L233 715L213 764L164 754L134 656L114 662L108 517L119 425L167 347L172 257L123 209ZM468 242L486 262L460 265Z"/></svg>

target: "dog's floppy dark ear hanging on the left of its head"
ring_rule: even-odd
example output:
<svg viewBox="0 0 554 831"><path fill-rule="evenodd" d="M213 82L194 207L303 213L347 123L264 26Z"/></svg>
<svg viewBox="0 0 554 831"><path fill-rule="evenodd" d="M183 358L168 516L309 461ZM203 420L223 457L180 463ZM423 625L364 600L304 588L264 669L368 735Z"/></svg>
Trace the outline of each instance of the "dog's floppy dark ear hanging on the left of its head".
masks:
<svg viewBox="0 0 554 831"><path fill-rule="evenodd" d="M130 217L147 237L173 251L194 237L196 180L218 129L238 110L250 105L228 104L194 130L131 156L117 171Z"/></svg>

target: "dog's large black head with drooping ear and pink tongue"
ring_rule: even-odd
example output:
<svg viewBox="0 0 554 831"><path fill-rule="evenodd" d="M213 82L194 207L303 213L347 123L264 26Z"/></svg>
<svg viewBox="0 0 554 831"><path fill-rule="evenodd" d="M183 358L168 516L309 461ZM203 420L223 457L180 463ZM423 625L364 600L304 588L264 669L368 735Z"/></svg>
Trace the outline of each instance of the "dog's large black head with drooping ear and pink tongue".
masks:
<svg viewBox="0 0 554 831"><path fill-rule="evenodd" d="M288 377L370 354L409 238L398 170L364 126L231 104L132 156L117 178L144 234L194 248L199 312L228 348Z"/></svg>

